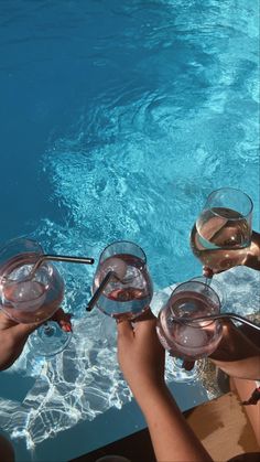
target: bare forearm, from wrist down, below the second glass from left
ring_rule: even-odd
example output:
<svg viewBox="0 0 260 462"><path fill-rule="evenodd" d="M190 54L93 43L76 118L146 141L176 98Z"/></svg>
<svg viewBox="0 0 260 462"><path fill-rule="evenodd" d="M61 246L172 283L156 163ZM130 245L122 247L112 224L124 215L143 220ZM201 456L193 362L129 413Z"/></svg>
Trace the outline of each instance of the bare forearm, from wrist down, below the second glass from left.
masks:
<svg viewBox="0 0 260 462"><path fill-rule="evenodd" d="M188 427L170 390L164 386L140 400L159 462L209 462L212 458Z"/></svg>

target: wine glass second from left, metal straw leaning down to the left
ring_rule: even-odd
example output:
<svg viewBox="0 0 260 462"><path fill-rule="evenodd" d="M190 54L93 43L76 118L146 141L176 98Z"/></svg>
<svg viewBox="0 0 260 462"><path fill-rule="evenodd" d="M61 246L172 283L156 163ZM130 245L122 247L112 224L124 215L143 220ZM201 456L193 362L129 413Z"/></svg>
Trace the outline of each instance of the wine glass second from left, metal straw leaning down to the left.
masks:
<svg viewBox="0 0 260 462"><path fill-rule="evenodd" d="M144 313L149 309L153 287L141 247L128 240L107 246L94 277L94 299L100 287L102 290L95 303L102 313L120 321L133 321ZM109 332L109 329L106 330Z"/></svg>

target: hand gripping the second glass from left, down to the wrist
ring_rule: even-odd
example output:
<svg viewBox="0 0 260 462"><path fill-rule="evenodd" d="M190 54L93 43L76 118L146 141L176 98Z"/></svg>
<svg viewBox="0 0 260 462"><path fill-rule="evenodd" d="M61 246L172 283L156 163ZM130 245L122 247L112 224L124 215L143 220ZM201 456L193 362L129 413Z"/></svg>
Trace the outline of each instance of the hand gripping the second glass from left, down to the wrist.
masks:
<svg viewBox="0 0 260 462"><path fill-rule="evenodd" d="M118 326L118 361L136 399L163 388L165 352L155 331L156 318L150 312L142 321L122 321Z"/></svg>

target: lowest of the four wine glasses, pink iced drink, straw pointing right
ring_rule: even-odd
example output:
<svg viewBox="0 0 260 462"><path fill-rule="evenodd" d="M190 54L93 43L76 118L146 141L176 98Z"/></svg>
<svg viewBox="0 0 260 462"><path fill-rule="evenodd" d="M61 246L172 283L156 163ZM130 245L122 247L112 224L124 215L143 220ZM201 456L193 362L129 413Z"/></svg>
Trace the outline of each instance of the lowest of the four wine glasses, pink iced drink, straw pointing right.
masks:
<svg viewBox="0 0 260 462"><path fill-rule="evenodd" d="M178 284L161 309L156 332L163 347L173 356L172 375L175 382L199 378L201 364L192 370L185 370L183 362L205 358L216 350L223 334L220 322L196 321L196 318L219 312L217 293L197 280Z"/></svg>

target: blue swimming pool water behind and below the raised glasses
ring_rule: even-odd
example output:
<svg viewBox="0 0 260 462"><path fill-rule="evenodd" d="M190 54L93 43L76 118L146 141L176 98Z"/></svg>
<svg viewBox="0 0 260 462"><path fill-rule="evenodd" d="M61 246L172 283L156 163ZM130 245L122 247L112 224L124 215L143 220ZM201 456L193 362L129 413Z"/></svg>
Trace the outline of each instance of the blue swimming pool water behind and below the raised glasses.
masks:
<svg viewBox="0 0 260 462"><path fill-rule="evenodd" d="M107 243L130 239L144 248L159 290L201 271L188 234L212 190L246 191L257 228L258 7L254 0L2 0L1 240L32 235L46 250L97 258ZM61 271L65 308L77 323L86 318L93 269L63 265ZM30 422L29 445L130 399L116 369L98 382L104 361L115 361L95 345L99 321L98 313L89 318L74 370L68 352L45 374L58 388L64 377L57 376L67 373L71 396L86 400L62 426L54 416L64 390L59 398L48 394L48 413L34 408L41 425L33 427L33 411L30 418L25 411L44 388L42 379L34 384L42 365L29 367L25 385L26 354L4 373L2 409L23 402L15 431ZM100 368L88 376L78 356L89 351ZM12 374L24 393L7 393ZM82 389L94 378L100 386L93 398L89 390L87 412Z"/></svg>

